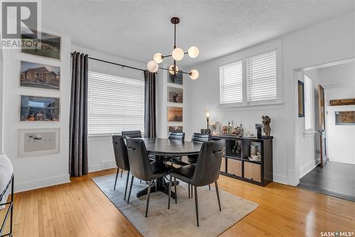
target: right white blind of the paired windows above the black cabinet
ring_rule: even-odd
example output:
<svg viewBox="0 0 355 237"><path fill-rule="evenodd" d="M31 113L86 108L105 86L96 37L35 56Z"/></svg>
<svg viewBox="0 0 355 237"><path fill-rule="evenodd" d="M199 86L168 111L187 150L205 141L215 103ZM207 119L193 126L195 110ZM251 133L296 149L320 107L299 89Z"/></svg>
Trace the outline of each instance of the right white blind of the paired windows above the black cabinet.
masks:
<svg viewBox="0 0 355 237"><path fill-rule="evenodd" d="M246 58L248 101L277 98L276 51Z"/></svg>

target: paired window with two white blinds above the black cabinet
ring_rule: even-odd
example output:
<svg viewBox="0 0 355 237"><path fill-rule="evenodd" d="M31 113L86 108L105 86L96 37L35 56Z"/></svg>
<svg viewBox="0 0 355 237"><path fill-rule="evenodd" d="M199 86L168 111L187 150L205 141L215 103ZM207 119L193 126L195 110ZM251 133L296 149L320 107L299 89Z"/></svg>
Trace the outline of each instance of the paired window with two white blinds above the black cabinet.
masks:
<svg viewBox="0 0 355 237"><path fill-rule="evenodd" d="M248 106L282 102L280 50L271 50L219 67L220 104ZM280 60L280 59L279 59Z"/></svg>

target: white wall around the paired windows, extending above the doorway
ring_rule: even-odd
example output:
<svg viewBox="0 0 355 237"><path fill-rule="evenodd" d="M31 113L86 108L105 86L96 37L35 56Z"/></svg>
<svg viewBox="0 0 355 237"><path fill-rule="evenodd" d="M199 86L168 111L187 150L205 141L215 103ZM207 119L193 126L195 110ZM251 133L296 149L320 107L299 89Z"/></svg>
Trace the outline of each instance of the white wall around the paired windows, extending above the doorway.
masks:
<svg viewBox="0 0 355 237"><path fill-rule="evenodd" d="M238 40L238 39L236 39ZM296 104L297 79L295 70L325 62L355 57L355 14L325 21L319 25L302 29L281 38L283 48L283 104L277 106L256 106L218 109L219 65L237 60L237 52L195 66L200 78L187 80L187 133L204 127L204 109L215 109L214 120L226 123L234 119L244 123L246 130L254 123L260 123L262 115L271 116L273 139L273 180L297 185L300 179L300 150L297 143L303 134L296 131L298 117ZM263 45L255 47L263 48ZM253 47L253 48L255 48ZM297 118L298 120L298 118ZM236 123L235 123L236 124ZM297 139L296 139L297 136ZM313 151L311 151L313 152Z"/></svg>

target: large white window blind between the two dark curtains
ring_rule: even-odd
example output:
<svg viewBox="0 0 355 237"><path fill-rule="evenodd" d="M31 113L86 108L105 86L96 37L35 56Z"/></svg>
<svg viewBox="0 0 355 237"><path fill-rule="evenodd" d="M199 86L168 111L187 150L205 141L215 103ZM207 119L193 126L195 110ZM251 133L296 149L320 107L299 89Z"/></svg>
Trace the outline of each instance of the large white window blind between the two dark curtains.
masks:
<svg viewBox="0 0 355 237"><path fill-rule="evenodd" d="M144 130L144 81L89 72L88 133Z"/></svg>

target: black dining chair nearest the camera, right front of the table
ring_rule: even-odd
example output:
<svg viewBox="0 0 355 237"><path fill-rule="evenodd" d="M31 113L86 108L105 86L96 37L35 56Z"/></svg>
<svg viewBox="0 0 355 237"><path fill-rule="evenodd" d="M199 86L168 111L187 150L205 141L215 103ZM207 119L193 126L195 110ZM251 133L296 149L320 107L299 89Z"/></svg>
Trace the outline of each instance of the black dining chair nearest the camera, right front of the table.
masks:
<svg viewBox="0 0 355 237"><path fill-rule="evenodd" d="M192 185L195 189L195 209L197 226L199 226L197 187L202 187L207 184L214 183L214 186L216 187L219 211L222 211L221 202L219 199L217 180L219 178L219 168L221 167L222 162L223 147L224 143L222 140L204 142L202 144L200 154L198 155L196 165L185 165L183 167L179 167L175 170L172 170L169 173L170 181L168 194L168 209L170 209L172 177L174 177L174 181L178 179L182 182L186 182L187 184ZM177 195L176 188L175 195Z"/></svg>

